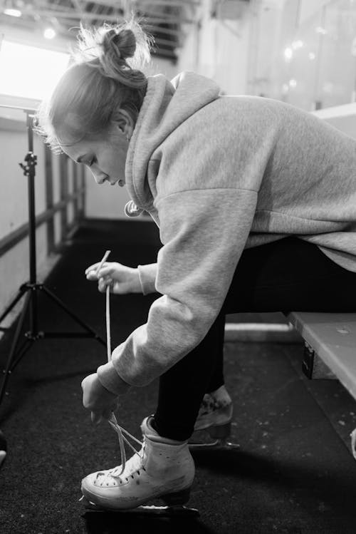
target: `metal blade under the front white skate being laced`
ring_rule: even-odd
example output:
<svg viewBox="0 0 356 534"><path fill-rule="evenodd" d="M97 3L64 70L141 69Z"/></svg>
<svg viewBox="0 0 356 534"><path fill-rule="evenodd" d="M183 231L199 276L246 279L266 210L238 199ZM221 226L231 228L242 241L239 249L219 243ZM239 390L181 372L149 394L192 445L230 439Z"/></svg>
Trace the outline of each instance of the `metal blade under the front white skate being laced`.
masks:
<svg viewBox="0 0 356 534"><path fill-rule="evenodd" d="M84 507L88 512L101 512L101 513L125 513L132 515L163 515L169 517L177 516L199 516L199 510L196 508L188 508L184 505L171 505L171 506L156 506L156 505L141 505L136 508L127 508L127 509L111 509L111 508L101 508L100 506L92 503L88 498L82 496L79 499L83 503Z"/></svg>

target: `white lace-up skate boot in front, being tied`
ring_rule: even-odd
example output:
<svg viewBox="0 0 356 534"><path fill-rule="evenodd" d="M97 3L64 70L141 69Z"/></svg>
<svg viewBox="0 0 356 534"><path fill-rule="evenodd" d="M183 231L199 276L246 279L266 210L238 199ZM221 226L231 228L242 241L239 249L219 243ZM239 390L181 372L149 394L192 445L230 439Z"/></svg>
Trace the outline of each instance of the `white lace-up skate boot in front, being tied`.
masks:
<svg viewBox="0 0 356 534"><path fill-rule="evenodd" d="M159 436L151 420L152 416L142 421L142 448L125 463L122 473L118 466L83 478L82 493L91 505L129 510L154 498L172 507L187 503L195 471L187 441Z"/></svg>

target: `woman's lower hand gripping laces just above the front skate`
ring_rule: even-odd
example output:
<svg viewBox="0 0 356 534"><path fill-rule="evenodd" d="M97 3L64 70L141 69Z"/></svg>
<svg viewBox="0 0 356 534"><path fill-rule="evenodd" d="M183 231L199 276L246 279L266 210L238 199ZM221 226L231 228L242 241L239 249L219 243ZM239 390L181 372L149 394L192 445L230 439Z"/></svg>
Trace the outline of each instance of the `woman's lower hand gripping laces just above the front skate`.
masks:
<svg viewBox="0 0 356 534"><path fill-rule="evenodd" d="M89 374L82 381L83 406L91 411L91 420L98 425L102 419L109 419L117 409L117 396L108 391L98 379L98 374Z"/></svg>

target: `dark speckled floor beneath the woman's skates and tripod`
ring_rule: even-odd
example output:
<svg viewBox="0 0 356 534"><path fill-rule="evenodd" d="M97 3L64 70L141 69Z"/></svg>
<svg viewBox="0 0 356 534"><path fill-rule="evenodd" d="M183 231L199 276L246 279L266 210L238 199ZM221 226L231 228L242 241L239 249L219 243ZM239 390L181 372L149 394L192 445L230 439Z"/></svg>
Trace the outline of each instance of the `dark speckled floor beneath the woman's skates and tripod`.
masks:
<svg viewBox="0 0 356 534"><path fill-rule="evenodd" d="M85 267L108 248L112 260L127 265L153 262L158 246L149 223L86 225L64 248L46 287L105 337L105 297L85 279ZM154 298L112 297L113 346L145 322ZM39 296L38 311L45 332L76 329L46 295ZM12 336L1 341L2 366ZM157 518L85 513L80 479L118 461L116 434L105 423L93 428L81 404L80 382L105 362L105 347L95 339L38 340L0 406L9 446L0 471L0 533L356 533L356 463L349 446L356 402L337 381L305 379L302 351L301 345L226 344L232 438L239 448L194 453L189 504L199 518ZM156 389L156 383L134 389L120 402L120 423L139 438Z"/></svg>

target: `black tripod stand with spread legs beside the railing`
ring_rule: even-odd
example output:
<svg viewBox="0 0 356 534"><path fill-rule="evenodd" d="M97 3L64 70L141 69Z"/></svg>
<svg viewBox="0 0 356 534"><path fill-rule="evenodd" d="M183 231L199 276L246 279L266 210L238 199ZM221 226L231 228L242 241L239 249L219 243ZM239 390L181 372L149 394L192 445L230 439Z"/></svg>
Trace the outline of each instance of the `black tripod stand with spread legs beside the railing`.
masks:
<svg viewBox="0 0 356 534"><path fill-rule="evenodd" d="M1 106L1 107L13 107L13 106ZM19 288L19 292L14 300L5 309L4 313L0 317L0 323L11 312L11 309L19 302L21 297L25 296L23 309L21 311L19 322L16 325L16 331L14 339L11 343L11 349L6 362L6 368L4 369L4 378L0 389L0 404L4 397L5 388L9 375L14 371L19 361L23 358L28 349L38 339L47 338L75 338L75 337L93 337L101 344L106 346L105 341L94 332L92 328L83 322L77 315L70 311L70 309L63 304L63 302L56 297L45 285L37 282L36 272L36 212L35 212L35 185L34 178L36 175L35 167L37 164L37 156L33 154L33 116L36 112L30 109L21 109L26 113L26 126L28 133L28 153L25 156L25 163L19 165L23 169L23 174L28 178L28 240L29 240L29 270L30 279L25 284L22 284ZM53 302L55 302L66 314L68 314L74 321L80 324L85 332L42 332L38 329L38 291L45 293ZM21 346L19 346L21 331L28 312L30 329L24 334L25 339Z"/></svg>

